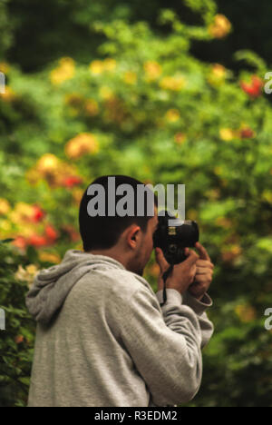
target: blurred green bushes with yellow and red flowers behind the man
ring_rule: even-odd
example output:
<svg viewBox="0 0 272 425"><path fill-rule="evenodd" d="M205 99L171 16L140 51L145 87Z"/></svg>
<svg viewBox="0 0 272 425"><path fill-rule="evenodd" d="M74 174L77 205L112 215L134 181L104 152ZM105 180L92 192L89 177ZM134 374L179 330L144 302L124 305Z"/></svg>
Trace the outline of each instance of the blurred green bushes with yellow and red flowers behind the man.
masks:
<svg viewBox="0 0 272 425"><path fill-rule="evenodd" d="M0 406L25 406L39 270L82 249L102 174L186 184L216 269L191 407L271 406L272 71L267 0L1 0ZM145 278L156 288L152 256Z"/></svg>

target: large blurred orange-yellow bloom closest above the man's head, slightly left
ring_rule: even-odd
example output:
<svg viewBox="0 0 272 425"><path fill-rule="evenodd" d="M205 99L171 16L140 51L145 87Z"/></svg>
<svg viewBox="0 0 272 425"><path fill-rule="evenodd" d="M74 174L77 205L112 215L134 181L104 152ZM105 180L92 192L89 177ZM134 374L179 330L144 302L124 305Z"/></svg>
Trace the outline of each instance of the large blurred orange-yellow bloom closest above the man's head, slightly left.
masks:
<svg viewBox="0 0 272 425"><path fill-rule="evenodd" d="M85 153L97 153L99 144L92 133L82 133L70 140L65 146L65 153L70 159L78 159Z"/></svg>

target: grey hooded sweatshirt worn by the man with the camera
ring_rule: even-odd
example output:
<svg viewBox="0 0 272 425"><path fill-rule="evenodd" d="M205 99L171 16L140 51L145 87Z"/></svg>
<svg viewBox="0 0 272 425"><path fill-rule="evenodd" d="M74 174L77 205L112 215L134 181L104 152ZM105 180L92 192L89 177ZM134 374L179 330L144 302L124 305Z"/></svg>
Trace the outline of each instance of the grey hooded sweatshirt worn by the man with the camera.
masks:
<svg viewBox="0 0 272 425"><path fill-rule="evenodd" d="M200 349L213 332L206 309L168 290L160 308L141 276L103 255L66 252L35 278L26 305L37 321L31 407L173 406L191 400Z"/></svg>

